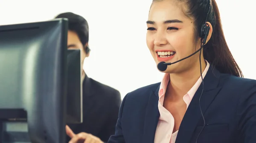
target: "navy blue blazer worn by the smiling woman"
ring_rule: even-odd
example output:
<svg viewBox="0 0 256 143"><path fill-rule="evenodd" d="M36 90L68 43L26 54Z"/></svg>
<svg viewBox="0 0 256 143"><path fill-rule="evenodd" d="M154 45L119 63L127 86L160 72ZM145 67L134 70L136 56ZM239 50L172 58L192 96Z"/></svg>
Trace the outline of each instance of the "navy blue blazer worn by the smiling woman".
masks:
<svg viewBox="0 0 256 143"><path fill-rule="evenodd" d="M159 119L160 83L128 93L119 109L115 135L108 143L154 143ZM204 121L199 97L192 98L175 143L195 143ZM256 80L222 74L210 66L201 107L206 125L197 143L256 143Z"/></svg>

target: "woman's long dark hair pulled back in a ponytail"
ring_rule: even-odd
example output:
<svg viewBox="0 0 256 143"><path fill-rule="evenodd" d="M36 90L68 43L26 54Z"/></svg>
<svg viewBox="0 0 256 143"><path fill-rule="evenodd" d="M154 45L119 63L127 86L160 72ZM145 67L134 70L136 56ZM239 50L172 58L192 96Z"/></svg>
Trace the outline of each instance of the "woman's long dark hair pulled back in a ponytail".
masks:
<svg viewBox="0 0 256 143"><path fill-rule="evenodd" d="M161 0L153 0L161 1ZM205 19L212 24L212 37L204 46L203 54L212 66L214 66L221 73L243 77L241 69L233 58L224 37L220 13L215 0L211 0L211 9L209 11L209 0L177 0L186 3L187 17L192 18L195 24L195 37L199 37L201 26ZM207 17L207 13L209 15Z"/></svg>

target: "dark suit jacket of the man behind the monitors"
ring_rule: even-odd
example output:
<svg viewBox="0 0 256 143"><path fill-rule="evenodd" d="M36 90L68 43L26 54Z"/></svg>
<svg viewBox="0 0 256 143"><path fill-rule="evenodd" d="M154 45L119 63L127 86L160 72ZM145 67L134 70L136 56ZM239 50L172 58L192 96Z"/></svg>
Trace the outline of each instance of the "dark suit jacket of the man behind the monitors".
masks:
<svg viewBox="0 0 256 143"><path fill-rule="evenodd" d="M102 141L115 133L121 96L119 91L88 76L83 81L83 123L69 125L74 133L87 132ZM67 137L67 143L70 138Z"/></svg>

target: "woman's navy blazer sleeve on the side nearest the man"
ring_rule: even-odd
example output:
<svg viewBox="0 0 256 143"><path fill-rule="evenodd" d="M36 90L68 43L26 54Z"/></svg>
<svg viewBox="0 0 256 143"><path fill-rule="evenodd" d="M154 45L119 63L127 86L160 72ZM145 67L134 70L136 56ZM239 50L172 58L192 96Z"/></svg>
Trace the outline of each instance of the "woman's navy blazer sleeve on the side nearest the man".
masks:
<svg viewBox="0 0 256 143"><path fill-rule="evenodd" d="M127 97L127 95L125 95L125 97L123 98L122 104L119 109L115 135L111 135L111 137L108 140L108 143L125 143L125 138L124 138L123 132L122 132L122 114L123 114L123 109L125 106L126 97Z"/></svg>

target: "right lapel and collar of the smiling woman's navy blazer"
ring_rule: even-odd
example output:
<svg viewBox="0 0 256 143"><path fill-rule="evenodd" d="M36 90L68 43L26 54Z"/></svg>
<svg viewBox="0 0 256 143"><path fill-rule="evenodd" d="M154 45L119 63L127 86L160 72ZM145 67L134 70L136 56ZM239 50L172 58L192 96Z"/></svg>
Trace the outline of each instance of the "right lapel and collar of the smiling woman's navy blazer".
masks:
<svg viewBox="0 0 256 143"><path fill-rule="evenodd" d="M215 96L221 90L221 87L217 87L219 76L220 73L218 70L215 70L215 68L210 66L207 75L204 78L204 91L200 99L203 114L207 111ZM198 126L198 122L202 119L199 106L199 98L202 89L203 86L201 84L183 117L175 143L190 143L194 130L196 126Z"/></svg>

